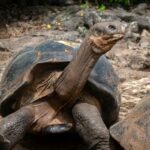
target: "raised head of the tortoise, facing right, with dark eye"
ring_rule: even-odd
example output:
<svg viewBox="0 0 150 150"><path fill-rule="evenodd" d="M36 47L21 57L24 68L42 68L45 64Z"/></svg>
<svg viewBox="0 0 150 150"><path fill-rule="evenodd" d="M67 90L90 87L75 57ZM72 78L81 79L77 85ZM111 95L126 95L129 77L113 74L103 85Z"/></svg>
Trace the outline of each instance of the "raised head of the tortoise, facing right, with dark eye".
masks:
<svg viewBox="0 0 150 150"><path fill-rule="evenodd" d="M95 24L88 34L93 51L98 54L109 51L117 41L123 38L125 29L126 25L120 21Z"/></svg>

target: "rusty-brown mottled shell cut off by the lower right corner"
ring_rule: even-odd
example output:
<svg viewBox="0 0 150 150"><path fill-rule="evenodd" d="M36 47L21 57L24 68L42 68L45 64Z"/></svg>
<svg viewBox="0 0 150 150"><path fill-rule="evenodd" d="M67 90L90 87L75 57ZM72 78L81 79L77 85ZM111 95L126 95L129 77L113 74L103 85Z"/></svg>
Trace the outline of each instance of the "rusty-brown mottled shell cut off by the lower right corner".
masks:
<svg viewBox="0 0 150 150"><path fill-rule="evenodd" d="M150 96L123 120L110 128L112 137L125 150L150 149Z"/></svg>

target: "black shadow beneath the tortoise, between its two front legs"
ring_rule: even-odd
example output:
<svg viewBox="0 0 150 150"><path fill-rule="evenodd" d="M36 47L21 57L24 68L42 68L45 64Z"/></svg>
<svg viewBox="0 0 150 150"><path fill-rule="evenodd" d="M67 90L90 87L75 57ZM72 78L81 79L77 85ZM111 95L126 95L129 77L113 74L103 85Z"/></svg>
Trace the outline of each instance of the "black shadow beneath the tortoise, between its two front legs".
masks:
<svg viewBox="0 0 150 150"><path fill-rule="evenodd" d="M27 135L13 150L86 150L78 135Z"/></svg>

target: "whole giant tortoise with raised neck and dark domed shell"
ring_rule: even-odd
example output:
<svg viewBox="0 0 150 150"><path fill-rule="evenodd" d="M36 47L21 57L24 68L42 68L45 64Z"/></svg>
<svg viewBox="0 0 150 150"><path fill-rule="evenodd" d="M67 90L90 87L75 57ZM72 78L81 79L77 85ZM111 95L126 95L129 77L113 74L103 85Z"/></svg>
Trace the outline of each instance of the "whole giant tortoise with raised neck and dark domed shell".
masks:
<svg viewBox="0 0 150 150"><path fill-rule="evenodd" d="M49 41L18 53L1 81L1 149L11 149L26 132L70 130L89 149L110 149L107 127L118 118L118 78L105 56L99 57L124 31L119 21L98 23L79 50Z"/></svg>

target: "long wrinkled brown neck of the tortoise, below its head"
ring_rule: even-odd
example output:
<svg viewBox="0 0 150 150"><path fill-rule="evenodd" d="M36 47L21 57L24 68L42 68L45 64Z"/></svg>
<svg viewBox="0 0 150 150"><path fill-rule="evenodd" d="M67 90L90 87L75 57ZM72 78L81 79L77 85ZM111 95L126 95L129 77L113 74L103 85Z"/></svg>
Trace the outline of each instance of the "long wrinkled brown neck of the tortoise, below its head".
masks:
<svg viewBox="0 0 150 150"><path fill-rule="evenodd" d="M55 93L65 102L72 102L80 94L99 57L105 53L95 45L93 38L86 38L76 56L65 68L54 85Z"/></svg>

